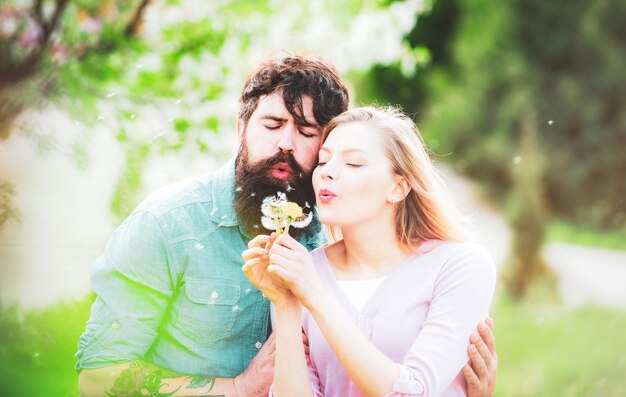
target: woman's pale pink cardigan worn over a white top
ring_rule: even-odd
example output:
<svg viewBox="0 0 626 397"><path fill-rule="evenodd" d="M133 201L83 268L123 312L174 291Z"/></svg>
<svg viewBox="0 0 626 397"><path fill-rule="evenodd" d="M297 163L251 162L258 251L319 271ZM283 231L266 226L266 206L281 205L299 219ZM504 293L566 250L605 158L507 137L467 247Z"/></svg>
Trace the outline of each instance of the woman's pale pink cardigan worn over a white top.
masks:
<svg viewBox="0 0 626 397"><path fill-rule="evenodd" d="M324 248L311 252L317 272L361 332L398 366L388 396L465 396L460 372L469 336L488 314L495 266L480 246L429 241L390 273L359 312L341 291ZM309 375L315 396L361 396L304 310ZM270 391L271 395L271 391Z"/></svg>

